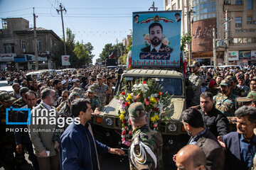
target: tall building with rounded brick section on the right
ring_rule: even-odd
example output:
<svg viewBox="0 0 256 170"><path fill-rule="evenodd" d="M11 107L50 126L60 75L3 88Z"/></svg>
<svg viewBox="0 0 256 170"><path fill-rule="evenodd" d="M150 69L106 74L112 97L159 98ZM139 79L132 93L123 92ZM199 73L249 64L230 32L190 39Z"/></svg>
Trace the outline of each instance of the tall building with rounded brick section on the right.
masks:
<svg viewBox="0 0 256 170"><path fill-rule="evenodd" d="M164 0L164 4L165 10L183 10L181 33L191 33L193 61L213 65L214 28L218 65L256 64L256 1Z"/></svg>

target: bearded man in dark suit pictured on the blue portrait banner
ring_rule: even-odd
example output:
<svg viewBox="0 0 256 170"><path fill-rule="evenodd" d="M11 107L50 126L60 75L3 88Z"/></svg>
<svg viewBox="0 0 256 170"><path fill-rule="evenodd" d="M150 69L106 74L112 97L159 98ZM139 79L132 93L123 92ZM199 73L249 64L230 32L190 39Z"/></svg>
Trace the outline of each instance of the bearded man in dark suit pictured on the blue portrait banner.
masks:
<svg viewBox="0 0 256 170"><path fill-rule="evenodd" d="M149 26L149 40L151 45L142 48L142 52L169 52L174 49L162 44L163 26L160 23L151 23Z"/></svg>

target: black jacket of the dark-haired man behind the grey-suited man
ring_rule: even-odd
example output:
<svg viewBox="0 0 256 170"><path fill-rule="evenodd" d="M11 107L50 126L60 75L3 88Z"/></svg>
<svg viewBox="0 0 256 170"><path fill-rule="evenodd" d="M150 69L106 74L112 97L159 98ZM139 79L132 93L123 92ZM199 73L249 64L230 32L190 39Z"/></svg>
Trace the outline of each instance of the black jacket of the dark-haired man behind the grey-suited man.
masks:
<svg viewBox="0 0 256 170"><path fill-rule="evenodd" d="M222 139L223 135L228 133L228 118L214 106L207 115L203 113L202 109L200 109L200 113L206 127L215 137L220 136L220 139Z"/></svg>

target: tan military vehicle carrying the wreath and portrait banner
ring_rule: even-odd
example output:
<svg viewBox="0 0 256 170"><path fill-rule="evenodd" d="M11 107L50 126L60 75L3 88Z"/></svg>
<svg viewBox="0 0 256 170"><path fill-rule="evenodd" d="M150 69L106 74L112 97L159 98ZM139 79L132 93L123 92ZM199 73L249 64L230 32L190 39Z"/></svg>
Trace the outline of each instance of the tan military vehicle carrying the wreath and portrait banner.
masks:
<svg viewBox="0 0 256 170"><path fill-rule="evenodd" d="M164 140L164 159L172 161L173 154L188 142L188 135L181 122L181 113L186 109L185 79L183 74L174 70L163 69L132 69L122 74L118 91L124 86L129 86L136 79L151 79L158 81L164 88L163 92L174 95L171 99L171 120L160 123L159 131ZM112 147L124 147L121 141L121 122L119 120L119 103L113 98L109 105L105 106L100 115L92 118L94 135L97 140ZM166 163L165 163L166 166Z"/></svg>

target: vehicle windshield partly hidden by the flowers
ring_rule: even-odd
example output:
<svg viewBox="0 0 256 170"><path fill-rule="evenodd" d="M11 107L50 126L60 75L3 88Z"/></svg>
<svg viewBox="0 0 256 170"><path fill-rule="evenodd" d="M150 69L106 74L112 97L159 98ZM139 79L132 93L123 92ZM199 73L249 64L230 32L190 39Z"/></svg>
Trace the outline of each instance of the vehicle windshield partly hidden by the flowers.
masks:
<svg viewBox="0 0 256 170"><path fill-rule="evenodd" d="M175 78L156 78L156 77L124 77L123 81L121 83L121 89L126 86L128 91L132 90L132 84L135 84L135 81L139 81L143 79L144 81L147 81L148 79L151 79L153 81L159 82L161 87L163 87L163 93L166 93L166 91L174 96L182 95L182 81L181 79L175 79Z"/></svg>

